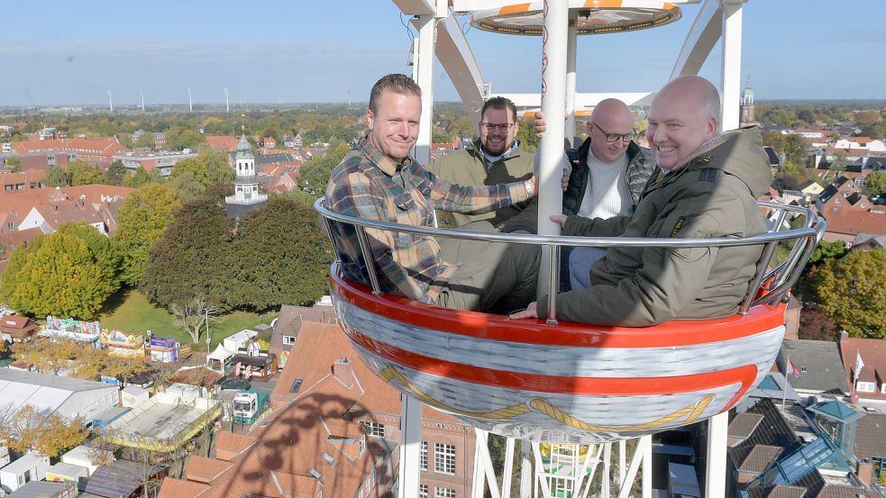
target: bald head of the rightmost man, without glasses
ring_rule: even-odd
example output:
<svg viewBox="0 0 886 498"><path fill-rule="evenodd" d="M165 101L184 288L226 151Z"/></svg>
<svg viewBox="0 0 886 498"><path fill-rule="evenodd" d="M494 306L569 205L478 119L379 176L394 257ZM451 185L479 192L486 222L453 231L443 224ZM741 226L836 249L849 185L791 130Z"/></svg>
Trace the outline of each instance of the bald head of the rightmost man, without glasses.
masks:
<svg viewBox="0 0 886 498"><path fill-rule="evenodd" d="M720 95L703 77L678 77L655 95L646 134L665 171L689 158L720 131Z"/></svg>

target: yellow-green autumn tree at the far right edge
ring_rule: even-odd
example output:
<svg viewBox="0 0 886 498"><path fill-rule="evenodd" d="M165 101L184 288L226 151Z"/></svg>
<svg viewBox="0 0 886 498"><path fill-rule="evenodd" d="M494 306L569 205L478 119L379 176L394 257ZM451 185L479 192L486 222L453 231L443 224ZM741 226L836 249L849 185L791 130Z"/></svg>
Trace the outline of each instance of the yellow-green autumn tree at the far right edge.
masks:
<svg viewBox="0 0 886 498"><path fill-rule="evenodd" d="M853 250L811 274L817 303L853 337L886 337L886 249Z"/></svg>

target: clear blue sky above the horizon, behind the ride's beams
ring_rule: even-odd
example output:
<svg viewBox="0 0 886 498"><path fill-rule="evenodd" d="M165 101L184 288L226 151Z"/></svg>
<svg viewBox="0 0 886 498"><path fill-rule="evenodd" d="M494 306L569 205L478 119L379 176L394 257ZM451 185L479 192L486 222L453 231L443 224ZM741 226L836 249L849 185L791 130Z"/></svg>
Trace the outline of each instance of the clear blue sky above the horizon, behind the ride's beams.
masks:
<svg viewBox="0 0 886 498"><path fill-rule="evenodd" d="M847 8L851 5L852 8ZM644 32L582 37L580 91L662 86L699 5ZM406 29L389 0L6 2L0 21L0 105L355 102L404 72ZM886 98L886 2L750 0L743 75L758 99ZM466 19L465 19L466 21ZM536 92L538 38L470 30L496 92ZM717 46L702 76L719 78ZM743 76L744 79L744 76ZM436 100L457 100L440 66Z"/></svg>

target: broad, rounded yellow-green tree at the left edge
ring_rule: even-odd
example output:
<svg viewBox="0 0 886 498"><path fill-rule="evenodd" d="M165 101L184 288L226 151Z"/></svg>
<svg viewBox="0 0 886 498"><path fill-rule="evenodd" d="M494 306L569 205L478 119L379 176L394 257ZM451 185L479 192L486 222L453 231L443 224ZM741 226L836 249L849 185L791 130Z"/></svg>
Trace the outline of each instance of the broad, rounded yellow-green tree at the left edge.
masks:
<svg viewBox="0 0 886 498"><path fill-rule="evenodd" d="M38 317L93 318L117 288L87 242L72 231L47 236L9 280L11 288L4 291L9 303Z"/></svg>

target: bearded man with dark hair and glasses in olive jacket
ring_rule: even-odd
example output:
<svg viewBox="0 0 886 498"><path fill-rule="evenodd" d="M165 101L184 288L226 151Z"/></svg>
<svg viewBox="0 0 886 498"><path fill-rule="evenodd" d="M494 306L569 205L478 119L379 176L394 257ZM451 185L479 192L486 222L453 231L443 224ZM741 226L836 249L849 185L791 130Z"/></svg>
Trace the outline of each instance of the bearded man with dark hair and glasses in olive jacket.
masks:
<svg viewBox="0 0 886 498"><path fill-rule="evenodd" d="M480 112L480 139L466 144L463 150L438 158L425 169L437 177L463 186L493 186L525 181L533 176L534 154L520 147L520 140L516 140L519 130L514 103L505 97L492 97L483 104ZM451 214L455 228L485 220L496 229L501 229L527 204L512 204L492 213L438 212L438 216L443 218Z"/></svg>

